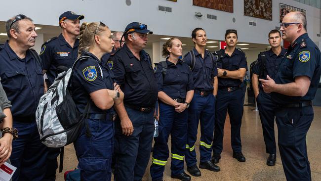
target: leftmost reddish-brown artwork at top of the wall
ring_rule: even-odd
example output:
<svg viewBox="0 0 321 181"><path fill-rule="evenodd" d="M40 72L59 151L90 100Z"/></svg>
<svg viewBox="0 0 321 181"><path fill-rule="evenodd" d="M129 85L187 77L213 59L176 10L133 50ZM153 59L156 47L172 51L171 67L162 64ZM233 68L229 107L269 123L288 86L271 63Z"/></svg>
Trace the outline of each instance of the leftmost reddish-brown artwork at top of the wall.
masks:
<svg viewBox="0 0 321 181"><path fill-rule="evenodd" d="M233 0L193 0L193 5L233 13Z"/></svg>

